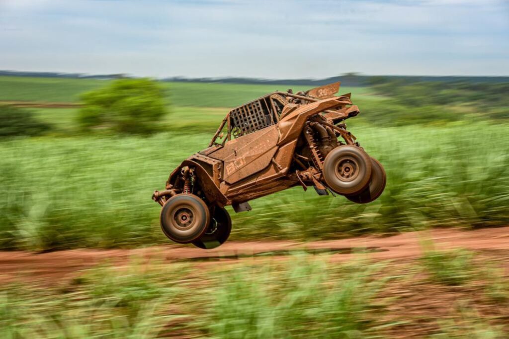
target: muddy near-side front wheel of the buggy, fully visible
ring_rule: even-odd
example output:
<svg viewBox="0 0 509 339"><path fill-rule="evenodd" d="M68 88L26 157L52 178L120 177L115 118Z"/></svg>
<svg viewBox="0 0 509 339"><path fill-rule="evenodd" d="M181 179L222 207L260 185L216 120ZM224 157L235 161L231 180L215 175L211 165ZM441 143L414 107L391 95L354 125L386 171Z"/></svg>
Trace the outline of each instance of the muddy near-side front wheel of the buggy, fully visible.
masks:
<svg viewBox="0 0 509 339"><path fill-rule="evenodd" d="M194 194L177 194L161 209L161 229L170 240L187 244L207 231L210 213L203 200Z"/></svg>

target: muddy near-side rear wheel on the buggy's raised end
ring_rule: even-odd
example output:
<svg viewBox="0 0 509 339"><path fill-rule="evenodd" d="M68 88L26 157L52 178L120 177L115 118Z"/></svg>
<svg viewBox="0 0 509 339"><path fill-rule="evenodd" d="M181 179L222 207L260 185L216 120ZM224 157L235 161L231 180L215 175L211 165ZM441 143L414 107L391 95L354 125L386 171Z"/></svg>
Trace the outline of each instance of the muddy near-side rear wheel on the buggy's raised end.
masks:
<svg viewBox="0 0 509 339"><path fill-rule="evenodd" d="M338 146L325 157L323 176L327 186L334 192L357 194L370 182L370 156L356 146Z"/></svg>

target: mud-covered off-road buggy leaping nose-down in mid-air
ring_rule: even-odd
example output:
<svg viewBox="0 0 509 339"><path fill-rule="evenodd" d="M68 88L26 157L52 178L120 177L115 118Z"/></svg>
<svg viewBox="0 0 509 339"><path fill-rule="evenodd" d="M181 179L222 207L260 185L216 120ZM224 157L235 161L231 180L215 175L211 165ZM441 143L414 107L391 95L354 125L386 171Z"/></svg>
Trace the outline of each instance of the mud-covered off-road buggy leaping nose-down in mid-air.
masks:
<svg viewBox="0 0 509 339"><path fill-rule="evenodd" d="M369 203L385 188L382 165L346 129L359 114L340 83L293 94L273 92L232 109L209 147L191 155L152 199L162 206L164 234L178 243L214 248L232 228L225 206L250 210L248 201L302 186ZM333 193L334 192L334 193Z"/></svg>

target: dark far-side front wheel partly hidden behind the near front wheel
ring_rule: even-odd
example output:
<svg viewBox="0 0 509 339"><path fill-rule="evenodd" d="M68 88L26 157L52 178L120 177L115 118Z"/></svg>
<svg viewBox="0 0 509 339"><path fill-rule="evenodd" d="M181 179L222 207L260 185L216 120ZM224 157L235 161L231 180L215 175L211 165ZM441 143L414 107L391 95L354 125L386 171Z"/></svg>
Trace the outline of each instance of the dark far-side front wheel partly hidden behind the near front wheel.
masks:
<svg viewBox="0 0 509 339"><path fill-rule="evenodd" d="M232 231L232 219L224 208L216 206L214 215L210 219L207 231L192 244L202 249L212 249L222 245L228 240Z"/></svg>

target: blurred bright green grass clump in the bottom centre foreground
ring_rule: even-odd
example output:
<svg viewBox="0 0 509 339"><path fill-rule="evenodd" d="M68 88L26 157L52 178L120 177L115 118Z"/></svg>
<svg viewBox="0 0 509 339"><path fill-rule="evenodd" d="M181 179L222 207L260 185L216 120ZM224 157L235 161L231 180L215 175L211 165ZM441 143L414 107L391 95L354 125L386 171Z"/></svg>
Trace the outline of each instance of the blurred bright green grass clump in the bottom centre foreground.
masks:
<svg viewBox="0 0 509 339"><path fill-rule="evenodd" d="M219 338L368 337L380 265L356 263L333 274L320 259L295 256L277 271L244 268L222 279L208 322Z"/></svg>

